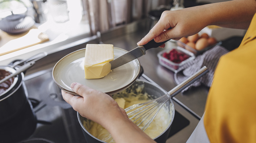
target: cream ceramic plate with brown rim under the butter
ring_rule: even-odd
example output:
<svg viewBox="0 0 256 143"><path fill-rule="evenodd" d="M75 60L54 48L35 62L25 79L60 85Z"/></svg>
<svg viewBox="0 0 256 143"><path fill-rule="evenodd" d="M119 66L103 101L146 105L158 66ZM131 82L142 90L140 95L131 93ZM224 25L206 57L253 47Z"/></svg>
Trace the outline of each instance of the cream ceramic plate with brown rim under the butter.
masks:
<svg viewBox="0 0 256 143"><path fill-rule="evenodd" d="M127 53L126 50L114 47L114 58ZM116 94L132 85L139 76L140 63L135 59L117 67L107 76L99 79L84 78L85 48L72 52L61 58L53 67L53 80L64 91L77 95L70 87L78 82L109 95Z"/></svg>

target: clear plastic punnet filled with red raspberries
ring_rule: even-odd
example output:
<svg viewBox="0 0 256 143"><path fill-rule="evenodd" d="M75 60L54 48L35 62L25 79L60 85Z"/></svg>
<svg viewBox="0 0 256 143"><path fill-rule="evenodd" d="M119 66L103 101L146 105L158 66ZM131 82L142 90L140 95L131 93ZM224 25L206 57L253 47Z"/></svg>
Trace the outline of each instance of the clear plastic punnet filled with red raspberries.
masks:
<svg viewBox="0 0 256 143"><path fill-rule="evenodd" d="M194 60L195 55L179 46L165 49L157 54L160 65L167 69L177 72L179 68L188 61Z"/></svg>

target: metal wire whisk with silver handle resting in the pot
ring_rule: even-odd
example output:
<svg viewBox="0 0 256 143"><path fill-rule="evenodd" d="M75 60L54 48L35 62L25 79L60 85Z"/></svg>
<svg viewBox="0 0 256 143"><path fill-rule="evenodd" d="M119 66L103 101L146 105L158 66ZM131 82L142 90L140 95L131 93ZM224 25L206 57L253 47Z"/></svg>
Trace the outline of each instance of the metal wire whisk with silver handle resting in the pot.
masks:
<svg viewBox="0 0 256 143"><path fill-rule="evenodd" d="M172 97L180 93L190 84L198 80L207 72L208 69L204 66L199 71L188 77L186 80L181 82L172 90L170 90L167 94L162 95L154 100L145 103L134 104L126 108L125 111L129 119L131 119L137 126L142 126L141 130L144 131L150 125L150 123L156 117L157 113L160 111L160 109L167 101L169 101Z"/></svg>

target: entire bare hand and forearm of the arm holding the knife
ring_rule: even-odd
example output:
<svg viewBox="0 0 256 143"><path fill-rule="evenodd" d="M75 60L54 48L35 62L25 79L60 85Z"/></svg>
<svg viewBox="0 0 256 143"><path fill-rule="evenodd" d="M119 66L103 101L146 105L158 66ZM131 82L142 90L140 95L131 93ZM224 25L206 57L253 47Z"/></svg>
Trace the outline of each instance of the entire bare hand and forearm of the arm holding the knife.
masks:
<svg viewBox="0 0 256 143"><path fill-rule="evenodd" d="M208 25L247 29L255 14L255 6L255 0L246 3L236 0L164 11L158 23L137 44L145 45L152 39L156 42L179 40L200 32Z"/></svg>

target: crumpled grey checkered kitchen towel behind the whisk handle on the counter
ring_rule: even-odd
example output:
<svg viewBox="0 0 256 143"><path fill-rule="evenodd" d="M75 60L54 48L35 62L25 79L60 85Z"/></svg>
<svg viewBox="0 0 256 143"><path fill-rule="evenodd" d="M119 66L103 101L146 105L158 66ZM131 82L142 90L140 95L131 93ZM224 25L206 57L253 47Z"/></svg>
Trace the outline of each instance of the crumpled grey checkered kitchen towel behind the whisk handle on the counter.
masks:
<svg viewBox="0 0 256 143"><path fill-rule="evenodd" d="M217 45L210 50L204 52L202 55L197 56L194 60L189 61L183 67L178 69L178 71L174 74L174 80L177 84L180 84L193 73L200 70L203 66L206 66L209 70L209 72L207 72L200 79L192 83L190 86L183 89L181 92L183 93L191 87L198 87L200 85L210 87L218 61L220 57L227 52L228 50L226 50L224 47L222 47L221 45Z"/></svg>

